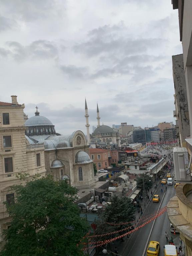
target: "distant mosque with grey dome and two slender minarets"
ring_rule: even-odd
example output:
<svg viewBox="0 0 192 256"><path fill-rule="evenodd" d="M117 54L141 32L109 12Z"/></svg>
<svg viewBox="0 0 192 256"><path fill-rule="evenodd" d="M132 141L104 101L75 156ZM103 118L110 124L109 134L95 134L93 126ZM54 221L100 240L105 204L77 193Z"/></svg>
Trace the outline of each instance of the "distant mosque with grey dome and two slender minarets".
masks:
<svg viewBox="0 0 192 256"><path fill-rule="evenodd" d="M99 108L97 104L97 128L91 135L89 134L89 115L88 115L88 108L87 102L85 99L85 118L86 118L86 128L87 128L87 142L88 144L97 144L99 145L116 145L120 147L120 135L118 132L115 132L111 127L107 125L100 125L100 116L99 116Z"/></svg>

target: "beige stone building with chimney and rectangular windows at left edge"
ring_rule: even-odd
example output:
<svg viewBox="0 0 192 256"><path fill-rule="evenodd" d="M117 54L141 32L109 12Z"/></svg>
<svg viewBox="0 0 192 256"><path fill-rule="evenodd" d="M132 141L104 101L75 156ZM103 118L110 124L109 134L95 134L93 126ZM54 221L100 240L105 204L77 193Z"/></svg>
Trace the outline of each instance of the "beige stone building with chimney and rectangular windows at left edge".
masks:
<svg viewBox="0 0 192 256"><path fill-rule="evenodd" d="M6 206L15 202L10 186L24 183L16 177L18 173L28 173L33 177L45 175L44 146L36 144L25 136L24 104L11 96L12 103L0 102L0 249L4 244L2 232L9 226L10 217Z"/></svg>

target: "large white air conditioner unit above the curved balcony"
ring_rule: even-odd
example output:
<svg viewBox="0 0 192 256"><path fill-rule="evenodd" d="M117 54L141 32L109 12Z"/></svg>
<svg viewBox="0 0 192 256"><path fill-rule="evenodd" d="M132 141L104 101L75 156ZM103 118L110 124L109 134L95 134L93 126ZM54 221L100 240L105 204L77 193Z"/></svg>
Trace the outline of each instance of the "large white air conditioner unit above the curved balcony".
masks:
<svg viewBox="0 0 192 256"><path fill-rule="evenodd" d="M189 165L189 155L186 148L173 148L173 162L175 169L175 179L177 181L191 180Z"/></svg>

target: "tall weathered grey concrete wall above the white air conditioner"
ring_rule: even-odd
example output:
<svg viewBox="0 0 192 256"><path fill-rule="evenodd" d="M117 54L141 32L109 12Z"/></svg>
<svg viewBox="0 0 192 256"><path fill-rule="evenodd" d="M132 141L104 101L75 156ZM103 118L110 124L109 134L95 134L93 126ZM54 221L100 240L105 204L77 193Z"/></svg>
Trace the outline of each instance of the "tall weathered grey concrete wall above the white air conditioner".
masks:
<svg viewBox="0 0 192 256"><path fill-rule="evenodd" d="M173 81L175 88L175 110L173 111L176 120L176 135L180 146L185 147L185 138L190 136L189 110L187 102L187 88L183 65L183 54L172 56Z"/></svg>

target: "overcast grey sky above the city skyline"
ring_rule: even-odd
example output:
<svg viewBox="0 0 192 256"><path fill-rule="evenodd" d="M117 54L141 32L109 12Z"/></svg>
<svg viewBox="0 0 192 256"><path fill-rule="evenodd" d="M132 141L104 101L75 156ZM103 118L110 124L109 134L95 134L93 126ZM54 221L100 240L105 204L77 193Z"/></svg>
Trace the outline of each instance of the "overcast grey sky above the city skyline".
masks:
<svg viewBox="0 0 192 256"><path fill-rule="evenodd" d="M0 0L0 101L57 132L174 121L172 55L182 53L171 0Z"/></svg>

